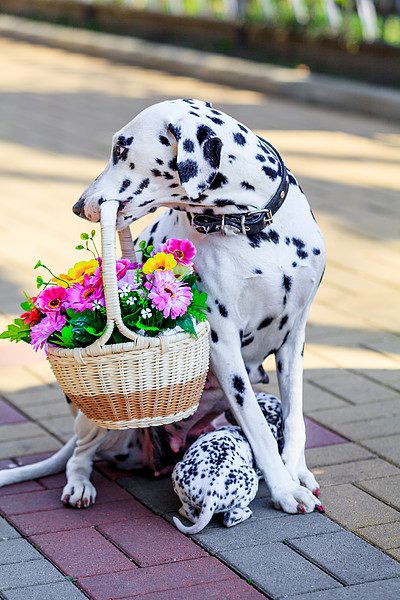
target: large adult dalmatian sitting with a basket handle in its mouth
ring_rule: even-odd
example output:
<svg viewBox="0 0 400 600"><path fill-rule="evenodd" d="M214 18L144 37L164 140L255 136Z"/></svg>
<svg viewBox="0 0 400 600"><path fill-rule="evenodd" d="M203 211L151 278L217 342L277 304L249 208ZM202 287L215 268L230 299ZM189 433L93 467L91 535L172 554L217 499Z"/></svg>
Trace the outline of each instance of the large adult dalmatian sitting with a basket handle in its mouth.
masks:
<svg viewBox="0 0 400 600"><path fill-rule="evenodd" d="M161 102L114 135L106 168L73 210L97 222L107 202L118 203L118 230L166 207L138 243L174 237L191 240L197 249L199 287L210 307L210 377L217 385L204 390L191 419L165 426L169 449L178 460L191 433L207 427L226 399L274 506L288 513L313 511L321 503L305 462L302 357L325 249L306 197L278 151L208 102ZM252 386L265 378L261 365L271 354L282 403L282 455ZM95 495L89 480L93 456L108 443L109 432L82 414L75 430L62 499L87 506ZM116 435L125 436L126 464L133 450L135 462L148 464L136 431ZM0 485L22 476L13 471L0 473Z"/></svg>

